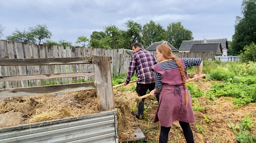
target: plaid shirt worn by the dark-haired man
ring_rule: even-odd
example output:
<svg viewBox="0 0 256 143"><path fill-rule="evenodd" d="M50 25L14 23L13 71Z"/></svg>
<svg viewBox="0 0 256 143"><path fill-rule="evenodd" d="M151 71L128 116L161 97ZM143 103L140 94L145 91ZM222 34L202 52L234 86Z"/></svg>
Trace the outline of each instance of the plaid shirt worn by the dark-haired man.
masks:
<svg viewBox="0 0 256 143"><path fill-rule="evenodd" d="M135 70L136 77L138 78L138 84L154 83L155 79L151 68L156 63L157 62L151 52L139 49L130 59L128 75L125 83L128 84L130 82L130 78L133 76Z"/></svg>

